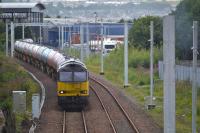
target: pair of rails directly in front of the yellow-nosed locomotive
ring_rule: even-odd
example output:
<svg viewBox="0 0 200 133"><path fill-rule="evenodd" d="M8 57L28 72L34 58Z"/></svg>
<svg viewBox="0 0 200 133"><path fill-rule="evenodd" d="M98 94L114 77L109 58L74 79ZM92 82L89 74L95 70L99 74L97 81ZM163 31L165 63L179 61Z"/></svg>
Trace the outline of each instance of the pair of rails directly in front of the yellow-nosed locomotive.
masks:
<svg viewBox="0 0 200 133"><path fill-rule="evenodd" d="M67 127L68 127L68 125L67 125L67 119L66 119L66 117L67 117L67 113L66 113L66 111L64 111L63 112L62 133L67 133ZM83 132L84 133L88 133L84 111L81 112L81 119L82 119Z"/></svg>

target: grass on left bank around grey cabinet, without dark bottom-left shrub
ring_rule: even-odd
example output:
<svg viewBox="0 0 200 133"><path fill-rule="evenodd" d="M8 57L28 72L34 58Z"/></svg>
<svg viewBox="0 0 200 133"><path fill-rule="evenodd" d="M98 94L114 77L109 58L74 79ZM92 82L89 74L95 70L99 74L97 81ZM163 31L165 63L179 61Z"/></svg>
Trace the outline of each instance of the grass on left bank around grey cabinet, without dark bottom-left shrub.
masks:
<svg viewBox="0 0 200 133"><path fill-rule="evenodd" d="M12 110L14 90L26 91L27 112L16 114L17 132L20 132L21 122L27 118L25 116L31 114L32 94L39 92L39 85L14 59L0 53L0 108Z"/></svg>

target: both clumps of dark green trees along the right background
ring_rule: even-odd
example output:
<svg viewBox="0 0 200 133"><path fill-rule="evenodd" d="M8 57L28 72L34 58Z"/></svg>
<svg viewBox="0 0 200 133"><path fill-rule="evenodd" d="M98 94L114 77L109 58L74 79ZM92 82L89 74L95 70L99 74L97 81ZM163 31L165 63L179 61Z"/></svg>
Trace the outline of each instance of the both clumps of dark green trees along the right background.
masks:
<svg viewBox="0 0 200 133"><path fill-rule="evenodd" d="M181 60L192 59L192 23L200 23L200 1L183 0L171 14L176 19L176 57ZM154 42L156 47L162 47L162 18L155 16L145 16L133 21L133 26L129 31L129 45L139 49L150 47L150 21L154 21ZM200 28L199 28L200 31ZM200 35L200 34L199 34ZM200 38L200 36L199 36Z"/></svg>

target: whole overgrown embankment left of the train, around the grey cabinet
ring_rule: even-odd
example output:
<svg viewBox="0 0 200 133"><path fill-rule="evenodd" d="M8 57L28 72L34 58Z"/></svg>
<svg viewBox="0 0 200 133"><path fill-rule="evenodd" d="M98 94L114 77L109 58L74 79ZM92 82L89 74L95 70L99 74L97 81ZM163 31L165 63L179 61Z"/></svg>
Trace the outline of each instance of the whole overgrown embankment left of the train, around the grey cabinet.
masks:
<svg viewBox="0 0 200 133"><path fill-rule="evenodd" d="M12 91L26 91L27 111L13 113ZM15 59L0 53L0 127L2 132L28 132L31 126L31 99L39 85Z"/></svg>

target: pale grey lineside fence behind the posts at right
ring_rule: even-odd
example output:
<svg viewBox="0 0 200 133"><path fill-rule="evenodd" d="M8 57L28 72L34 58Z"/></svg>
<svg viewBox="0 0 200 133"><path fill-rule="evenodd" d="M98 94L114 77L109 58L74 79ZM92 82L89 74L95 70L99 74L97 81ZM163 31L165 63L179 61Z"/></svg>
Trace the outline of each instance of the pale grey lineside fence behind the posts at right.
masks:
<svg viewBox="0 0 200 133"><path fill-rule="evenodd" d="M158 72L159 72L159 78L161 80L163 80L163 77L164 77L163 70L164 70L163 61L159 61L158 62ZM175 66L175 79L192 82L192 66L176 65ZM197 68L197 86L200 87L200 67Z"/></svg>

